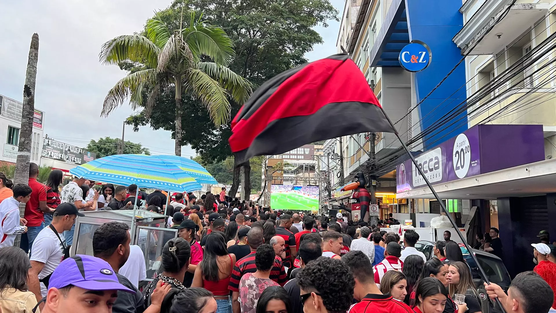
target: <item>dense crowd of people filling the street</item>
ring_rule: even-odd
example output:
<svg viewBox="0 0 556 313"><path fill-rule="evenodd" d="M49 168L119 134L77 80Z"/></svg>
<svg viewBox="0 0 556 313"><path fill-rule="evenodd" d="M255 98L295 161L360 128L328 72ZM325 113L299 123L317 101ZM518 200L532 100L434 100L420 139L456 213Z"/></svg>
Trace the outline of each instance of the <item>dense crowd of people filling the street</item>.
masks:
<svg viewBox="0 0 556 313"><path fill-rule="evenodd" d="M225 188L197 199L147 194L136 185L97 189L83 178L62 187L59 170L41 184L37 175L33 163L28 184L13 184L0 173L3 312L490 313L494 299L508 313L556 312L556 249L550 243L533 244L538 265L517 275L505 292L494 283L476 285L476 265L449 233L428 259L415 248L417 232L408 229L400 239L342 213L274 211L230 198ZM82 211L136 204L165 214L162 228L177 229L176 238L164 237L155 275L147 278L144 251L131 244L128 225L117 221L95 228L91 256L69 255ZM18 234L21 244L14 247ZM481 246L497 250L494 240L483 239Z"/></svg>

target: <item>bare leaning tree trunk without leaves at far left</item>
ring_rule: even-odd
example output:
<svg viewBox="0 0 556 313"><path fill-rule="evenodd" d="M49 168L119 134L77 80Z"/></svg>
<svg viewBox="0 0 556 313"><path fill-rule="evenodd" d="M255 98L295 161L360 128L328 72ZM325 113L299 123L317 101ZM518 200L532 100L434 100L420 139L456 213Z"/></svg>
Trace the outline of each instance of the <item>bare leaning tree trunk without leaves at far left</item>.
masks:
<svg viewBox="0 0 556 313"><path fill-rule="evenodd" d="M29 59L27 61L27 72L25 74L25 85L23 86L23 110L21 114L21 130L19 131L19 144L16 160L16 172L13 175L13 183L29 183L29 163L31 162L31 141L33 134L34 115L34 91L37 80L38 62L38 34L34 33L29 48ZM25 204L19 205L19 216L23 217ZM19 246L17 236L14 246Z"/></svg>

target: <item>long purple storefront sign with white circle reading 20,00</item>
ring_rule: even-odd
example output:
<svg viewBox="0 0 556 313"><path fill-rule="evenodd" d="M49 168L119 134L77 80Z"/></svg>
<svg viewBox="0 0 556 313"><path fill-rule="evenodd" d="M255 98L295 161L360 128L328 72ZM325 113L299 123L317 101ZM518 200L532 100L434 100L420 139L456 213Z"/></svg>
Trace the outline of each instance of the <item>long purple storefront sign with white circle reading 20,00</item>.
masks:
<svg viewBox="0 0 556 313"><path fill-rule="evenodd" d="M430 183L445 183L542 161L543 140L542 125L475 125L415 159ZM425 185L410 159L396 166L398 193Z"/></svg>

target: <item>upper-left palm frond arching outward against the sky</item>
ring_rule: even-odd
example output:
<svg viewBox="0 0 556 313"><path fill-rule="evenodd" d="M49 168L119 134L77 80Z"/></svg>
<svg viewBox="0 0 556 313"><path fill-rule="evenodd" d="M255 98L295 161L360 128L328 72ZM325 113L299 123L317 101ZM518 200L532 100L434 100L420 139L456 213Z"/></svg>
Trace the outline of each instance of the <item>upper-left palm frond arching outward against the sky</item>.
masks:
<svg viewBox="0 0 556 313"><path fill-rule="evenodd" d="M130 60L156 67L158 52L160 48L145 36L122 35L105 42L98 58L103 64L117 64Z"/></svg>

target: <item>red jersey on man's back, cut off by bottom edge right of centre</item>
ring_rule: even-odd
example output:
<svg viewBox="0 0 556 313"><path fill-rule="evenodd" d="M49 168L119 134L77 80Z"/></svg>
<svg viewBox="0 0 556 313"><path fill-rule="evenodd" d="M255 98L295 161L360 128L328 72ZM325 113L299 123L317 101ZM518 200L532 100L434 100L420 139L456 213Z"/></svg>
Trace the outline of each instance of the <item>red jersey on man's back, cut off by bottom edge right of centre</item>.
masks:
<svg viewBox="0 0 556 313"><path fill-rule="evenodd" d="M404 302L395 300L390 294L368 294L347 313L414 313Z"/></svg>

